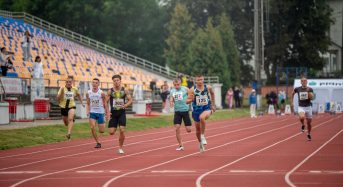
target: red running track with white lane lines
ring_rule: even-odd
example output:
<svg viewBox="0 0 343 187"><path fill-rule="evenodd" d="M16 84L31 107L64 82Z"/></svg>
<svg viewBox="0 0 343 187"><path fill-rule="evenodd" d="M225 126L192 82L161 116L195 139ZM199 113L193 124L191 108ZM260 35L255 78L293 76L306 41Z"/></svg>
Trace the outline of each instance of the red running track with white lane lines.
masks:
<svg viewBox="0 0 343 187"><path fill-rule="evenodd" d="M117 136L0 152L0 186L343 186L343 115L314 117L313 140L295 116L263 116L209 123L199 153L183 129L128 133L125 154Z"/></svg>

